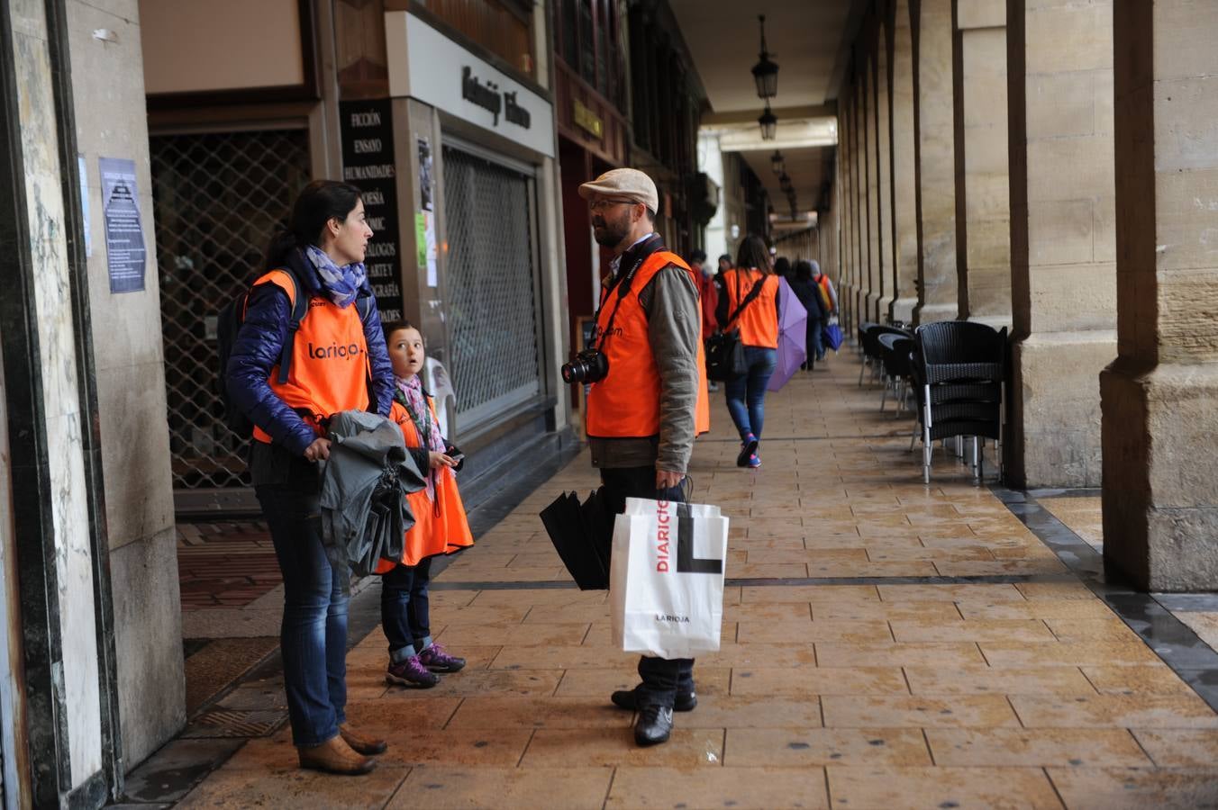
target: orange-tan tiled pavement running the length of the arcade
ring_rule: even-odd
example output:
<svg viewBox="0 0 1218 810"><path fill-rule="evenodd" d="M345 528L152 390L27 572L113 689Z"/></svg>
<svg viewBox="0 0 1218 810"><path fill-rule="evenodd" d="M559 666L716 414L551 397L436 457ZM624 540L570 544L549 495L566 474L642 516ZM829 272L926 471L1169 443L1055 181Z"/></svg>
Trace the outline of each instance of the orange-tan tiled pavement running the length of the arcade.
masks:
<svg viewBox="0 0 1218 810"><path fill-rule="evenodd" d="M581 456L437 578L434 631L465 671L390 688L379 630L353 647L350 718L391 741L373 775L300 771L280 729L183 804L1218 806L1218 715L966 467L940 451L923 486L907 422L856 375L843 353L771 395L758 472L733 466L717 395L692 474L733 519L723 645L667 744L636 748L608 704L636 676L607 594L555 585L536 514L596 485ZM281 704L269 675L219 705ZM239 744L171 748L205 743Z"/></svg>

